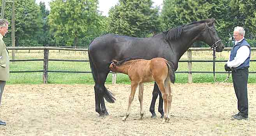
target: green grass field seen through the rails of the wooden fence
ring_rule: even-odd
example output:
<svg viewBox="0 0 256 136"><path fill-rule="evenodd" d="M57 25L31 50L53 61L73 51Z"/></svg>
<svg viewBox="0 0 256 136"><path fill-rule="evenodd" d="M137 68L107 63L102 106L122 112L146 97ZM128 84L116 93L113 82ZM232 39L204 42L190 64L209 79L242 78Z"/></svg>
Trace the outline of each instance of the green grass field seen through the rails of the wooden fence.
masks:
<svg viewBox="0 0 256 136"><path fill-rule="evenodd" d="M218 52L217 60L227 60L230 52ZM10 53L11 55L11 53ZM16 52L15 59L42 59L42 52ZM252 58L256 59L256 52L252 52ZM87 52L73 51L50 51L49 59L82 59L88 60ZM187 54L182 56L181 60L187 60ZM212 60L211 51L192 51L192 60ZM225 63L216 63L215 71L224 71ZM42 61L29 62L11 62L10 71L29 71L42 70ZM90 71L88 62L62 62L49 61L48 70L62 71ZM188 71L187 63L179 63L177 71ZM192 71L212 71L212 63L193 62ZM249 71L256 71L256 62L250 63ZM176 83L187 83L187 73L176 73ZM226 79L228 74L216 74L218 81ZM42 72L37 73L10 73L10 80L7 84L42 84ZM193 83L213 83L213 74L192 73ZM232 82L231 74L228 82ZM256 74L249 74L249 83L256 83ZM48 73L48 84L94 84L92 74L89 73ZM106 79L106 84L112 84L112 74L110 73ZM117 84L130 84L127 75L117 74Z"/></svg>

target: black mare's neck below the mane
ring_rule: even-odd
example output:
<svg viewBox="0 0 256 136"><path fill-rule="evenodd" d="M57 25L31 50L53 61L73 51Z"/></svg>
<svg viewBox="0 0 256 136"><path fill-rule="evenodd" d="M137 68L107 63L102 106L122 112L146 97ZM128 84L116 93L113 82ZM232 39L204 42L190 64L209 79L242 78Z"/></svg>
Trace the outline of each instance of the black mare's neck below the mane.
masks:
<svg viewBox="0 0 256 136"><path fill-rule="evenodd" d="M177 40L177 42L180 43L180 45L178 45L176 48L177 52L180 52L180 56L178 56L178 59L180 59L181 56L191 47L191 45L196 40L198 40L200 32L202 31L200 25L184 26L182 30L182 35Z"/></svg>

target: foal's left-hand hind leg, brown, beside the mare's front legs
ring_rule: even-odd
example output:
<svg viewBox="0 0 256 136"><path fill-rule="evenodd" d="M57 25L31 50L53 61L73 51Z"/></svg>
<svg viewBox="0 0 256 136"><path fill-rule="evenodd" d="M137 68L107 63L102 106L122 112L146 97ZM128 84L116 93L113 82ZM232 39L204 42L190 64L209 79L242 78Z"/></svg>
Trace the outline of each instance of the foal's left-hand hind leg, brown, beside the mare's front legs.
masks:
<svg viewBox="0 0 256 136"><path fill-rule="evenodd" d="M164 119L162 122L165 122L166 120L169 119L168 116L168 92L167 89L164 87L164 81L157 82L157 85L159 87L159 90L162 93L162 99L164 100Z"/></svg>

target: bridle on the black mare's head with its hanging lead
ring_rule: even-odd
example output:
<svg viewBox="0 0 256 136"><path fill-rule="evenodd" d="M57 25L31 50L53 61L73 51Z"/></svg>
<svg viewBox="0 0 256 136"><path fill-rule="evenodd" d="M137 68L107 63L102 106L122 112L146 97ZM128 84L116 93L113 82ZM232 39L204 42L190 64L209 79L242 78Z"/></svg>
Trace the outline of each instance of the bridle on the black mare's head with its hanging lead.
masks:
<svg viewBox="0 0 256 136"><path fill-rule="evenodd" d="M214 27L214 25L213 26L211 26L211 27L208 27L208 24L206 23L206 27L207 27L207 30L208 30L208 32L209 32L209 34L210 34L210 29L211 28L213 28ZM211 38L211 41L212 41L212 35L210 35L210 38ZM216 59L216 48L218 47L217 46L217 43L218 42L220 42L221 41L221 39L219 39L219 40L217 40L213 45L212 45L212 47L211 47L211 49L213 48L213 73L214 73L214 81L215 82L218 82L218 83L221 83L221 82L219 82L219 81L217 81L217 79L216 79L216 77L215 77L215 59ZM226 80L228 80L230 78L230 71L228 71L228 77L224 80L224 81L222 81L222 82L225 82Z"/></svg>

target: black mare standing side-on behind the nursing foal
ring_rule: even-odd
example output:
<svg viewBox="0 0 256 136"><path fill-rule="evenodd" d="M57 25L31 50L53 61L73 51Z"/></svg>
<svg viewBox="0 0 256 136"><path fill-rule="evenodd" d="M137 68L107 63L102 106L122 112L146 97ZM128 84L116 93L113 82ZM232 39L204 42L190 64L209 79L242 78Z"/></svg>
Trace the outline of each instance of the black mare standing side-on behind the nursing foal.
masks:
<svg viewBox="0 0 256 136"><path fill-rule="evenodd" d="M105 87L109 73L109 65L113 60L121 61L126 58L152 59L161 57L173 63L175 71L180 57L195 41L202 41L212 46L217 52L224 49L214 28L215 19L196 21L155 34L148 38L135 38L106 34L95 38L89 45L88 54L90 67L94 77L95 110L100 116L108 115L104 98L114 103L113 94ZM153 98L150 106L152 117L155 115L155 101L159 94L158 111L163 117L162 95L155 83ZM104 98L103 98L104 97Z"/></svg>

